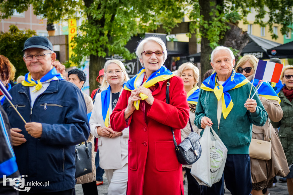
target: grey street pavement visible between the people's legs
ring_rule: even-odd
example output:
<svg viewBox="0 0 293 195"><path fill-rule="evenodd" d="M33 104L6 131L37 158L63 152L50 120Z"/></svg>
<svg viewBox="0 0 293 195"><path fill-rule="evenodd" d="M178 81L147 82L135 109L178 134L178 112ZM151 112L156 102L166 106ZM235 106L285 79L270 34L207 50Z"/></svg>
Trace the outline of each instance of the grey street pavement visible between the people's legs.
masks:
<svg viewBox="0 0 293 195"><path fill-rule="evenodd" d="M276 187L269 189L270 195L280 195L280 194L286 194L289 195L288 193L288 189L287 189L287 183L285 182L280 182L279 181L279 176L277 176L278 182L276 184ZM99 185L97 186L98 188L98 194L99 195L107 195L107 191L108 191L108 187L109 187L109 183L107 178L103 177L104 179L104 184L103 185ZM185 178L186 179L186 178ZM225 187L225 186L224 186ZM225 194L231 194L231 192L229 190L226 189L226 193ZM76 195L84 195L83 191L82 191L82 187L81 184L76 184L75 186L75 191L76 191ZM187 195L187 179L186 179L186 183L184 185L184 194Z"/></svg>

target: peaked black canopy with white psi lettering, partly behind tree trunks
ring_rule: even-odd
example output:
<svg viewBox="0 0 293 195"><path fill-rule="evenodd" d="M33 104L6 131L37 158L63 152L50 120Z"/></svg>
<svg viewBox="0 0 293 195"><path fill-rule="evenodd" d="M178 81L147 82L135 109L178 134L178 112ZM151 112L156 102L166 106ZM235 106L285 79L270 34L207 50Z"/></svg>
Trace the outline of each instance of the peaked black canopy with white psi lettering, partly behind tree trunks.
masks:
<svg viewBox="0 0 293 195"><path fill-rule="evenodd" d="M248 35L249 42L243 48L241 52L241 56L246 54L251 54L257 57L258 59L270 59L270 55L268 55L267 50L272 47L276 47L281 45L280 43L273 42L270 40L266 40L254 35ZM190 61L200 62L200 52L197 54L192 54L189 57Z"/></svg>

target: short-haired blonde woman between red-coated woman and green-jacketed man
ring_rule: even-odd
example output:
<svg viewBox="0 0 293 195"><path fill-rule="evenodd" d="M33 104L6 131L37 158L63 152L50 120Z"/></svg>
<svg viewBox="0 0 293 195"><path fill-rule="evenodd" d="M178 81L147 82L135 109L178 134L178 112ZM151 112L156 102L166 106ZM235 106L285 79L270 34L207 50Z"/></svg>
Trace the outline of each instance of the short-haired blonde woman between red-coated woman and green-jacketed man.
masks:
<svg viewBox="0 0 293 195"><path fill-rule="evenodd" d="M187 101L189 104L189 119L192 121L192 129L194 132L198 132L197 126L193 123L195 119L195 108L198 101L198 95L200 93L200 88L197 87L198 79L200 77L200 72L198 68L191 62L186 62L179 66L178 76L183 79L184 89L187 93ZM189 123L181 129L181 140L184 140L191 133L191 128ZM196 179L190 174L192 165L184 165L185 171L188 179L188 195L200 195L200 185Z"/></svg>

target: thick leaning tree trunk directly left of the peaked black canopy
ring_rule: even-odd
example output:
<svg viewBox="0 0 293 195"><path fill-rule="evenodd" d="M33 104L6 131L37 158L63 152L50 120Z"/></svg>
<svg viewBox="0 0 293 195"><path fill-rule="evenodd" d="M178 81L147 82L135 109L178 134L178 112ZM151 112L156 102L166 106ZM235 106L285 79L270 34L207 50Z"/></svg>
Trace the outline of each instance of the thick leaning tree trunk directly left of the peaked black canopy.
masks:
<svg viewBox="0 0 293 195"><path fill-rule="evenodd" d="M220 40L220 45L239 50L238 54L235 56L236 64L241 55L242 49L249 41L249 36L247 32L244 32L241 28L232 23L227 23L226 25L230 26L231 29L226 31L224 39Z"/></svg>

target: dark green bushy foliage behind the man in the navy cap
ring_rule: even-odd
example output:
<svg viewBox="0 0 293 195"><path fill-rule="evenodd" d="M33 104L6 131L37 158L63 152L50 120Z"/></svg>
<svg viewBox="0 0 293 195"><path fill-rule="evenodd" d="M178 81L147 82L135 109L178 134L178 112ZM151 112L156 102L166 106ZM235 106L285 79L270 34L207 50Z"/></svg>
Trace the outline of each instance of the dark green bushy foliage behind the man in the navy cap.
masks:
<svg viewBox="0 0 293 195"><path fill-rule="evenodd" d="M23 61L22 49L25 40L33 35L36 35L34 30L19 30L15 25L10 25L6 33L0 32L0 54L7 57L16 67L16 78L28 72Z"/></svg>

